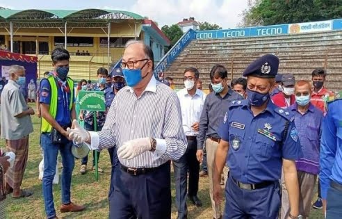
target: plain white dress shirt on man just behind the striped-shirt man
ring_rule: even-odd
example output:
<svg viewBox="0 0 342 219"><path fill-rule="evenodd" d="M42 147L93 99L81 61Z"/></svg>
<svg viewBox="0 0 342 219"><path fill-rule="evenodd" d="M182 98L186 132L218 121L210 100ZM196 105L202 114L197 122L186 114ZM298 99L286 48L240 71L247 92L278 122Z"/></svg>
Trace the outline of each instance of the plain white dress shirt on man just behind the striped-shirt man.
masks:
<svg viewBox="0 0 342 219"><path fill-rule="evenodd" d="M195 95L191 97L186 88L177 92L179 102L181 102L181 117L183 120L183 129L186 136L197 136L198 131L191 127L195 122L199 122L206 99L206 94L202 90L196 90Z"/></svg>

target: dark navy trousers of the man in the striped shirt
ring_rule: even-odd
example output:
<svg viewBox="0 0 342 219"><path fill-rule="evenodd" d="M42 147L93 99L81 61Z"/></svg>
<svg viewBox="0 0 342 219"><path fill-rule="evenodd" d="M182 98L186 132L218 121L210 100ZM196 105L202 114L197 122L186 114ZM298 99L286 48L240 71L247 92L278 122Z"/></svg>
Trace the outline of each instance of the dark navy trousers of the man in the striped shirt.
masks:
<svg viewBox="0 0 342 219"><path fill-rule="evenodd" d="M170 162L142 175L129 175L115 168L109 218L171 218Z"/></svg>

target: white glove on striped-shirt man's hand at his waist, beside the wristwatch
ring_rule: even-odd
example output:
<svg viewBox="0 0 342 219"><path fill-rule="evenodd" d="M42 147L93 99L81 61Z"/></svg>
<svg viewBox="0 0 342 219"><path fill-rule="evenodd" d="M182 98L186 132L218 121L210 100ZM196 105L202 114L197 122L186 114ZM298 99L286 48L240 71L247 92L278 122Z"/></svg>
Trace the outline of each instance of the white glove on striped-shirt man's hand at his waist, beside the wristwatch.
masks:
<svg viewBox="0 0 342 219"><path fill-rule="evenodd" d="M117 149L120 159L133 159L136 156L151 150L151 138L138 138L129 140Z"/></svg>

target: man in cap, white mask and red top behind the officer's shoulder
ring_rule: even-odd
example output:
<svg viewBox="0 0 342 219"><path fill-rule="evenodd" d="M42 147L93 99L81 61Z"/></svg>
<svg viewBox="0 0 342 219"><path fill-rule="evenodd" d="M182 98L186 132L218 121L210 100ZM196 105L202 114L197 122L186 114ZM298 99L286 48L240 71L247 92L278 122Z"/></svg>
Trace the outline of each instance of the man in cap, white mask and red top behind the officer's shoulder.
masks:
<svg viewBox="0 0 342 219"><path fill-rule="evenodd" d="M279 107L287 108L295 104L295 76L293 74L283 74L282 92L272 97L272 102Z"/></svg>

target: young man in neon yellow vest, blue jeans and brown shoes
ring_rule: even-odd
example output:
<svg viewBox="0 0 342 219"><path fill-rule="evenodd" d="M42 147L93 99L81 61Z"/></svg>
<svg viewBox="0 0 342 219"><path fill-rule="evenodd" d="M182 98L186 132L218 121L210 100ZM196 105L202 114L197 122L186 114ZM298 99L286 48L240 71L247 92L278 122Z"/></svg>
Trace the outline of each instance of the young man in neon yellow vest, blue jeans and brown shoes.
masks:
<svg viewBox="0 0 342 219"><path fill-rule="evenodd" d="M76 119L74 81L67 77L70 54L63 48L56 48L51 55L54 70L47 79L40 82L40 107L42 115L42 134L40 136L44 152L44 175L42 190L47 218L57 218L54 208L52 181L56 172L58 151L62 156L62 204L60 212L83 211L84 206L73 204L70 200L74 156L71 153L72 141L67 137L67 127Z"/></svg>

